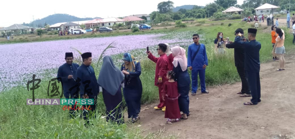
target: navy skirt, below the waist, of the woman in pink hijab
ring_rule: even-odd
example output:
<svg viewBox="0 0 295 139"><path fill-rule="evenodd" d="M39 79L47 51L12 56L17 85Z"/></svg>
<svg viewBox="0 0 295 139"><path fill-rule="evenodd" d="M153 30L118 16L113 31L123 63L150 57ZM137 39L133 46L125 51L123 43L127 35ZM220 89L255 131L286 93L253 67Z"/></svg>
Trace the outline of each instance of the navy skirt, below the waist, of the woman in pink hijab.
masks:
<svg viewBox="0 0 295 139"><path fill-rule="evenodd" d="M178 87L178 93L180 96L178 97L178 104L180 112L183 114L189 114L189 85L185 87Z"/></svg>

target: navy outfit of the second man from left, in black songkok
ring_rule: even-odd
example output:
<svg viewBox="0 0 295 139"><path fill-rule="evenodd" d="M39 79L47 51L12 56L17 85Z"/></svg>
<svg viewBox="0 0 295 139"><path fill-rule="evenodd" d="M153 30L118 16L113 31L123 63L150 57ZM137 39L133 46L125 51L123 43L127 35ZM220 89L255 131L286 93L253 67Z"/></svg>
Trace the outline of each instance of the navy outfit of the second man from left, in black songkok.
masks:
<svg viewBox="0 0 295 139"><path fill-rule="evenodd" d="M90 105L91 112L94 113L95 116L95 109L96 109L96 103L97 103L97 94L99 93L99 87L97 84L97 80L95 77L95 72L92 68L92 66L86 66L82 64L77 69L77 82L79 84L80 88L80 97L83 98L84 94L87 94L89 98L94 99L94 105ZM84 107L87 107L86 105L83 105ZM83 111L83 117L85 120L87 120L87 123L89 123L89 111L84 110Z"/></svg>

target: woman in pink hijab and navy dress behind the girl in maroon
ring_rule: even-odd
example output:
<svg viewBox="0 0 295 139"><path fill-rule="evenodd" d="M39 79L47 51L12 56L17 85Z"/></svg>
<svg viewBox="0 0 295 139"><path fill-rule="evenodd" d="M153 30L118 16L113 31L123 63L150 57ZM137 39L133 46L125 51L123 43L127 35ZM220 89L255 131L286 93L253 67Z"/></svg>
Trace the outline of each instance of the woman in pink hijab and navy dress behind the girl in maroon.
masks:
<svg viewBox="0 0 295 139"><path fill-rule="evenodd" d="M173 71L176 73L175 79L177 81L178 93L180 96L178 97L178 105L180 112L183 113L182 119L187 119L189 116L189 85L190 85L190 77L187 72L187 59L185 56L185 49L179 46L175 46L171 49L172 54L174 56L173 60Z"/></svg>

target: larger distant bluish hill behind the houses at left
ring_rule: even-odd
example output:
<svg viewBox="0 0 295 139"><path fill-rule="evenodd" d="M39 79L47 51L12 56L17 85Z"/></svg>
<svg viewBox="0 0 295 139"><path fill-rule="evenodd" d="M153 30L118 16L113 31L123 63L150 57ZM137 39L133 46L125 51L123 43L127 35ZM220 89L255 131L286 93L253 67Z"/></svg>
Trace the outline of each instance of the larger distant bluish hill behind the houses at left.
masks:
<svg viewBox="0 0 295 139"><path fill-rule="evenodd" d="M78 18L68 14L54 14L39 20L35 20L34 24L35 24L35 27L37 26L40 27L40 25L44 26L44 23L52 25L52 24L61 23L61 22L85 21L85 20L92 20L92 19L94 18ZM33 26L33 22L25 23L24 25Z"/></svg>

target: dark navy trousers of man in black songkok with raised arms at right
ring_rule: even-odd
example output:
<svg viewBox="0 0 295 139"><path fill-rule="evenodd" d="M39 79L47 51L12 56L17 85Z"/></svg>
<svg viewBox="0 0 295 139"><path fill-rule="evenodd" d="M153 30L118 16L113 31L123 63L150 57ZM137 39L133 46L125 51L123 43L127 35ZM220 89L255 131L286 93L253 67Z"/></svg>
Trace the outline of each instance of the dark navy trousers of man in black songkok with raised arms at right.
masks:
<svg viewBox="0 0 295 139"><path fill-rule="evenodd" d="M260 76L259 72L253 72L246 70L247 80L249 83L249 88L251 91L252 99L251 102L253 104L258 104L260 102L261 97L261 88L260 88Z"/></svg>

